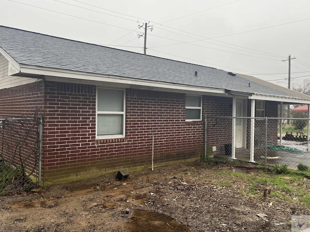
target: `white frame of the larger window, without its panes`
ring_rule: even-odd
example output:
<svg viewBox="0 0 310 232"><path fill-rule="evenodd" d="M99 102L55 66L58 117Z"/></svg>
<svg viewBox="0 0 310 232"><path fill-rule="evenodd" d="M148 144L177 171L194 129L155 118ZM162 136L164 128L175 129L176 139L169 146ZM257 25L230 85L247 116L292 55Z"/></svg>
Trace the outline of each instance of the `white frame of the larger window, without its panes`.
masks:
<svg viewBox="0 0 310 232"><path fill-rule="evenodd" d="M98 111L98 89L114 89L114 90L122 90L124 92L124 100L123 100L123 111ZM105 88L105 87L97 87L96 88L96 139L111 139L111 138L124 138L125 137L125 113L126 113L126 91L122 88ZM111 135L98 135L98 115L123 115L123 134L111 134Z"/></svg>

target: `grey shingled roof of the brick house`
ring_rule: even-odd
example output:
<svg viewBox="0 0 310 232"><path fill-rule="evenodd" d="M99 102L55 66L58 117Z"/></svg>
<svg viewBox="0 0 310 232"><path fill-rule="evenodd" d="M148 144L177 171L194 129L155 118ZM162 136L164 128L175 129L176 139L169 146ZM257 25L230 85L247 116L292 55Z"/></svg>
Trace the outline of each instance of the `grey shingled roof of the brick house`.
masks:
<svg viewBox="0 0 310 232"><path fill-rule="evenodd" d="M1 49L2 53L14 59L19 67L35 66L63 72L104 74L134 80L226 89L254 95L310 101L310 96L301 95L292 90L287 91L254 77L239 74L233 76L227 71L202 65L4 26L0 26L0 52ZM197 76L195 72L198 72Z"/></svg>

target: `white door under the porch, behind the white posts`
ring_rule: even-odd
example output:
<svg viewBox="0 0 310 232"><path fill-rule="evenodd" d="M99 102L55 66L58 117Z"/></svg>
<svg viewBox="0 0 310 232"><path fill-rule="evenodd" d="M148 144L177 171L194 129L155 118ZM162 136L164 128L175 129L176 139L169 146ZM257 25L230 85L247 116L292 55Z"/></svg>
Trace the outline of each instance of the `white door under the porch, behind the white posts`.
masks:
<svg viewBox="0 0 310 232"><path fill-rule="evenodd" d="M236 100L236 117L244 116L244 103L243 100ZM236 137L235 137L235 147L242 148L244 141L244 120L243 118L236 118Z"/></svg>

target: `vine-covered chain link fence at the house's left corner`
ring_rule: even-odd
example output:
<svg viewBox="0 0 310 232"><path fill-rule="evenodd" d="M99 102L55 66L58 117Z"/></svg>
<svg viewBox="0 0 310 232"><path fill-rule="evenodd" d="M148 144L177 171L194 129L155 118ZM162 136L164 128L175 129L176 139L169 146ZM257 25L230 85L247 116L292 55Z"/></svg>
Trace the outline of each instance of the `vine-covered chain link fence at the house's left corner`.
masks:
<svg viewBox="0 0 310 232"><path fill-rule="evenodd" d="M40 124L42 119L38 117L0 118L0 193L27 191L36 186Z"/></svg>

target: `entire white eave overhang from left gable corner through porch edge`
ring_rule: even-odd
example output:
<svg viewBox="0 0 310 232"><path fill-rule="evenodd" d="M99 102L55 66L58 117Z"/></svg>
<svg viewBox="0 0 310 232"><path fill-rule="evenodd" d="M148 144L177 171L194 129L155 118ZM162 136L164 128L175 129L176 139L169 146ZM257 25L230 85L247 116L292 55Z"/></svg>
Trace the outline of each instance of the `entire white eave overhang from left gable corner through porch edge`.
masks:
<svg viewBox="0 0 310 232"><path fill-rule="evenodd" d="M2 50L3 51L3 50ZM1 52L2 52L1 51ZM8 56L8 55L7 55ZM9 56L8 56L9 57ZM10 58L10 57L9 57ZM83 84L96 83L100 86L119 86L119 87L139 87L149 90L157 91L171 91L171 92L185 92L196 93L202 95L215 95L215 96L238 96L247 99L263 100L263 101L275 101L283 102L285 104L310 104L309 99L300 99L287 96L278 95L266 95L253 92L236 91L231 89L217 89L208 87L188 86L175 83L158 82L151 80L128 78L124 76L105 75L96 73L85 73L71 70L31 66L25 64L18 64L12 58L9 59L9 63L12 64L12 74L16 76L40 78L46 77L48 81L59 82L75 82Z"/></svg>

